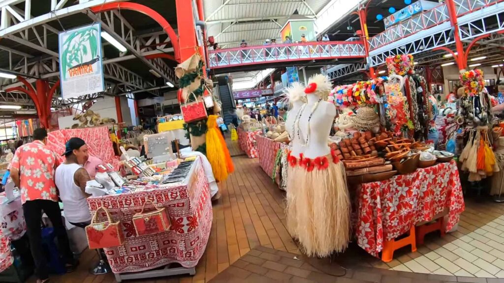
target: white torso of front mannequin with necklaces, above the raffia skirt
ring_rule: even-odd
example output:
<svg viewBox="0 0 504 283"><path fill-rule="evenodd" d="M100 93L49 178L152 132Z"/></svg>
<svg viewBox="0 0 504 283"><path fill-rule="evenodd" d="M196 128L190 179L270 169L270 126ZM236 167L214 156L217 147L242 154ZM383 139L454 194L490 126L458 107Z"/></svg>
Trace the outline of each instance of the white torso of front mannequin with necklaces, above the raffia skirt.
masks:
<svg viewBox="0 0 504 283"><path fill-rule="evenodd" d="M318 95L309 94L306 98L308 102L299 119L299 136L298 129L295 129L294 145L300 144L303 156L313 159L331 153L327 139L336 116L336 107L327 101L319 102ZM317 102L319 103L317 109L313 109ZM308 143L305 145L306 139L308 139ZM294 151L292 154L295 154Z"/></svg>

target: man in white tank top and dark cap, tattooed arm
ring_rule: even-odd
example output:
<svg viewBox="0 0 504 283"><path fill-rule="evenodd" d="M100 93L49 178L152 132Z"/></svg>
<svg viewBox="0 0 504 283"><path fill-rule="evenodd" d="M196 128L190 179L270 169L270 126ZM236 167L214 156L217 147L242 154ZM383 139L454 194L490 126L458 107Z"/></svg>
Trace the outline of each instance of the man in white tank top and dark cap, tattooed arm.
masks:
<svg viewBox="0 0 504 283"><path fill-rule="evenodd" d="M83 167L89 158L88 147L81 138L72 137L67 142L63 155L67 160L56 168L54 181L63 202L65 218L71 224L84 228L91 224L86 201L90 194L85 192L86 182L91 178Z"/></svg>

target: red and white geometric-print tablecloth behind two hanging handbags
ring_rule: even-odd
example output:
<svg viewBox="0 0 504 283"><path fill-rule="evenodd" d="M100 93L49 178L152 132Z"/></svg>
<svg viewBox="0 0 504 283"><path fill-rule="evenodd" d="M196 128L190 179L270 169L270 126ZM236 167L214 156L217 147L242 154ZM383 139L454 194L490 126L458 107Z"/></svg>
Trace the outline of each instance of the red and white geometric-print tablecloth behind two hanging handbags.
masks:
<svg viewBox="0 0 504 283"><path fill-rule="evenodd" d="M168 211L171 227L167 232L138 236L133 215L142 211L150 200ZM212 228L210 190L198 158L187 177L187 183L158 189L89 197L92 215L103 206L114 221L120 221L124 233L121 246L105 248L112 272L137 272L165 266L172 262L191 268L203 256ZM105 215L100 210L100 218Z"/></svg>

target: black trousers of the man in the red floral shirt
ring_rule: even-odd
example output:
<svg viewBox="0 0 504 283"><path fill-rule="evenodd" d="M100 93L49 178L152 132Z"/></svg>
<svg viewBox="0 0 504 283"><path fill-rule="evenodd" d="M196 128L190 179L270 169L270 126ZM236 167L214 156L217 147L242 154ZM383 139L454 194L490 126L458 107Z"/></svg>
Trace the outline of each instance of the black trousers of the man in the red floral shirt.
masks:
<svg viewBox="0 0 504 283"><path fill-rule="evenodd" d="M23 204L25 214L26 232L30 240L30 249L35 262L35 275L39 279L49 277L47 268L47 258L42 249L42 210L52 223L54 233L58 239L59 252L63 254L66 263L73 264L74 258L70 250L67 230L61 220L61 211L57 202L46 199L27 200Z"/></svg>

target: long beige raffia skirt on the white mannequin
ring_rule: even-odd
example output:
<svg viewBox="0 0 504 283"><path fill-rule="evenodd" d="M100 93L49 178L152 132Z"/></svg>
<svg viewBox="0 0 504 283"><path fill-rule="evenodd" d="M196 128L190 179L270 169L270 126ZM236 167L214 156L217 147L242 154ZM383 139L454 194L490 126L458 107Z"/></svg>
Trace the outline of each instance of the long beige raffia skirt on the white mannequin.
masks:
<svg viewBox="0 0 504 283"><path fill-rule="evenodd" d="M331 156L328 156L331 160ZM342 162L326 169L288 166L287 229L307 256L342 252L350 241L350 199Z"/></svg>

